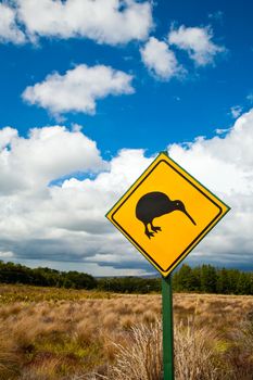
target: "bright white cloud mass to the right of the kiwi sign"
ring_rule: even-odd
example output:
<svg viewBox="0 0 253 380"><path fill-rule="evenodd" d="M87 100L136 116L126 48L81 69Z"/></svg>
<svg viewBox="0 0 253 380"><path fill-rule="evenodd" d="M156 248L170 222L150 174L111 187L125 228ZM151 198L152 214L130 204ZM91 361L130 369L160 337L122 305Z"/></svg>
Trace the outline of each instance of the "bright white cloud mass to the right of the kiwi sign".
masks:
<svg viewBox="0 0 253 380"><path fill-rule="evenodd" d="M253 263L253 110L241 115L225 138L199 138L182 147L173 144L169 154L231 211L192 253L220 264Z"/></svg>

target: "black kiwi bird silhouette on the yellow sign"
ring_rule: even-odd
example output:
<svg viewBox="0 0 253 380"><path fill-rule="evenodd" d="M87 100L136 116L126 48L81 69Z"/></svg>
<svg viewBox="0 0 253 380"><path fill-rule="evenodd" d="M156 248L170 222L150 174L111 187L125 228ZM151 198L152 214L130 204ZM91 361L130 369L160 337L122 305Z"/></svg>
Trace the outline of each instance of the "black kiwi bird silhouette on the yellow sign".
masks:
<svg viewBox="0 0 253 380"><path fill-rule="evenodd" d="M160 191L149 192L139 199L136 205L136 217L143 223L144 233L150 239L154 236L154 232L162 230L161 227L153 225L153 219L173 211L182 212L195 225L194 219L188 214L185 204L180 200L172 201ZM150 225L152 231L149 231L148 225Z"/></svg>

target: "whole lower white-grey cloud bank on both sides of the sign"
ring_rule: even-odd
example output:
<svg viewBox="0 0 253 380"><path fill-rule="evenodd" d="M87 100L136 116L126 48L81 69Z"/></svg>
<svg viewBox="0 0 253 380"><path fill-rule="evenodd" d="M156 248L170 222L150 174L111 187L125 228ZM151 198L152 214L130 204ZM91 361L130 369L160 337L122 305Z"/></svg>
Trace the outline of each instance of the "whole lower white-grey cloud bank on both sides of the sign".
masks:
<svg viewBox="0 0 253 380"><path fill-rule="evenodd" d="M18 137L15 129L1 132L3 257L11 252L13 261L35 266L58 263L54 267L97 275L150 271L147 261L104 215L153 157L143 150L124 149L104 162L94 141L78 128L35 128L27 138ZM190 254L191 262L252 268L252 144L253 110L223 137L168 147L174 160L231 207ZM80 179L72 175L76 172L88 174ZM58 185L52 182L64 176Z"/></svg>

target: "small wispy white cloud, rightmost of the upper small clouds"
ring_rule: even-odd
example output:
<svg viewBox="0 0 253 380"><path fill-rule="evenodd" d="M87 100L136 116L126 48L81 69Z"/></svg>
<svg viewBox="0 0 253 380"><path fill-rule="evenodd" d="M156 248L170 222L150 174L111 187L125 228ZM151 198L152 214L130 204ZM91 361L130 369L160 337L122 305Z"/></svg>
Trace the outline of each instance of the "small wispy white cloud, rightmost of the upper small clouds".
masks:
<svg viewBox="0 0 253 380"><path fill-rule="evenodd" d="M186 50L189 56L199 66L205 66L214 62L215 55L225 51L225 48L212 41L211 27L173 28L168 34L168 41L177 48Z"/></svg>

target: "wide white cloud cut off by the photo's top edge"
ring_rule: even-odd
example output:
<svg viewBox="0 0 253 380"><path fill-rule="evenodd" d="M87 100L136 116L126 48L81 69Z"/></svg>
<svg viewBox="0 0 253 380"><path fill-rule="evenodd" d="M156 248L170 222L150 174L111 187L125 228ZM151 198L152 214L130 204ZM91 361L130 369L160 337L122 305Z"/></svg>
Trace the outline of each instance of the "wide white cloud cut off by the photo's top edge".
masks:
<svg viewBox="0 0 253 380"><path fill-rule="evenodd" d="M16 0L18 18L31 39L86 37L99 43L147 38L151 2L135 0Z"/></svg>

